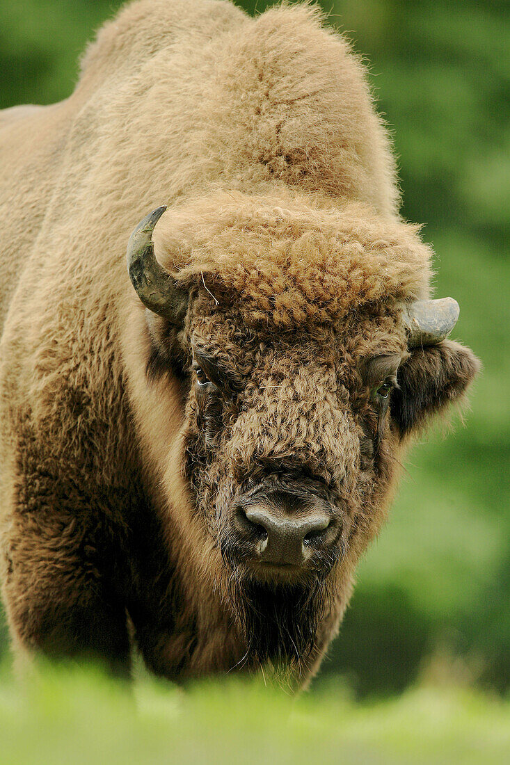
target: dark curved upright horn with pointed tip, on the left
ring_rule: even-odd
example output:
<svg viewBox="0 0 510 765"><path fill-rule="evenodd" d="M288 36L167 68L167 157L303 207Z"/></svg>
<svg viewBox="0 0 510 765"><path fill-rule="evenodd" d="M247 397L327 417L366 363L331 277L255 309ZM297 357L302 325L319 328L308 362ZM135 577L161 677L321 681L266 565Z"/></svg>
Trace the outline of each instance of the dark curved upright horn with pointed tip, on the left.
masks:
<svg viewBox="0 0 510 765"><path fill-rule="evenodd" d="M158 207L140 221L129 237L126 259L129 278L136 294L149 311L181 324L188 308L188 291L155 259L152 232L166 207Z"/></svg>

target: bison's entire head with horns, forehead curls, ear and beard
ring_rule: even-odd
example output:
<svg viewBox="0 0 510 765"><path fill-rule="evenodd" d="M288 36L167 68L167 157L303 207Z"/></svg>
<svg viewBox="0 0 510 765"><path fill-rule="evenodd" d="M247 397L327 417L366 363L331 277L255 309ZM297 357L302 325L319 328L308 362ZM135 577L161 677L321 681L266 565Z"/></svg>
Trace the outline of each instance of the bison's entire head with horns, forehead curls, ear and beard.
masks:
<svg viewBox="0 0 510 765"><path fill-rule="evenodd" d="M181 379L193 512L250 656L302 659L345 608L405 437L463 393L476 359L446 340L458 307L427 299L413 226L229 197L172 210L171 275L152 245L164 209L128 248L149 374Z"/></svg>

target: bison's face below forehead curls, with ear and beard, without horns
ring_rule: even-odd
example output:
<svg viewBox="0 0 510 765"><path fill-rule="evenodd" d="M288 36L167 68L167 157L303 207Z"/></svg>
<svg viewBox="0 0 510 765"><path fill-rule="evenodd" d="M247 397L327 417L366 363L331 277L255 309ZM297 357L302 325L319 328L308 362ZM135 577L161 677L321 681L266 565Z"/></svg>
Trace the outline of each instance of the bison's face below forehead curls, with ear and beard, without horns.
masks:
<svg viewBox="0 0 510 765"><path fill-rule="evenodd" d="M256 330L202 291L191 317L196 511L252 653L304 656L384 520L404 435L461 392L472 356L448 342L409 351L391 311Z"/></svg>

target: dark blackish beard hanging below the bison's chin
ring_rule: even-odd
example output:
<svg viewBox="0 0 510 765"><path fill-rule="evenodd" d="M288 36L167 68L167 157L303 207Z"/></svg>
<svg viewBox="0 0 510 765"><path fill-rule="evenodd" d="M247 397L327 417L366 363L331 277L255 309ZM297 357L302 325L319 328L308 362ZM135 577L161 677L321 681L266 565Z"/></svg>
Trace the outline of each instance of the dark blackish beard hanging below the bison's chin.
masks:
<svg viewBox="0 0 510 765"><path fill-rule="evenodd" d="M312 659L319 623L330 610L325 582L317 577L308 585L244 579L235 604L247 662L289 669Z"/></svg>

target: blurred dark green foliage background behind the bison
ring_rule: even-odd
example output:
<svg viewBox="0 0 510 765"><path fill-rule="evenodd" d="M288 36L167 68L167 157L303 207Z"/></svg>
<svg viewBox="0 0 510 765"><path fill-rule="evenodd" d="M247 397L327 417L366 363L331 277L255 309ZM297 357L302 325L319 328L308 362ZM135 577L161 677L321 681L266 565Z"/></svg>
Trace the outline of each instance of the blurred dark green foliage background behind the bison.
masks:
<svg viewBox="0 0 510 765"><path fill-rule="evenodd" d="M170 0L168 0L170 2ZM0 2L0 107L73 90L77 60L118 0ZM272 3L238 2L249 11ZM510 4L327 0L370 64L394 134L404 216L426 222L436 295L461 306L455 337L484 373L466 425L433 429L407 460L390 522L358 571L316 681L359 695L423 676L510 685ZM0 617L0 655L8 648Z"/></svg>

